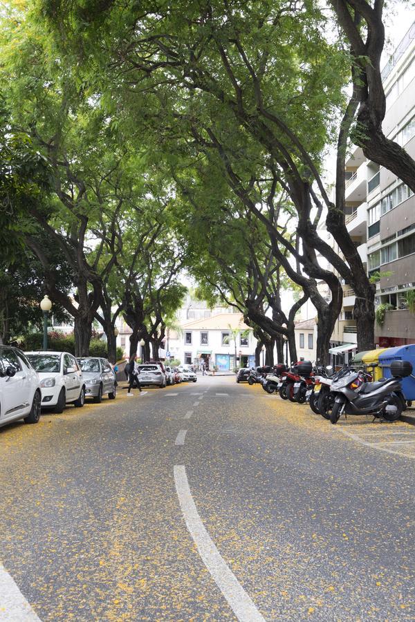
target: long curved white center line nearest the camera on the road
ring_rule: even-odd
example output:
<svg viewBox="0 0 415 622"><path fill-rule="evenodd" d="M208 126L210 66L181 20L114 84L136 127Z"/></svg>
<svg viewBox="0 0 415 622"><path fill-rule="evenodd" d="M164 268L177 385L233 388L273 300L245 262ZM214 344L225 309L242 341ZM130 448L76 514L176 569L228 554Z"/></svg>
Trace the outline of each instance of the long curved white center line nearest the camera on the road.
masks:
<svg viewBox="0 0 415 622"><path fill-rule="evenodd" d="M190 491L185 466L174 466L174 482L187 529L190 531L203 563L225 596L235 616L241 622L265 622L250 596L243 589L232 570L226 565L208 531L206 531Z"/></svg>

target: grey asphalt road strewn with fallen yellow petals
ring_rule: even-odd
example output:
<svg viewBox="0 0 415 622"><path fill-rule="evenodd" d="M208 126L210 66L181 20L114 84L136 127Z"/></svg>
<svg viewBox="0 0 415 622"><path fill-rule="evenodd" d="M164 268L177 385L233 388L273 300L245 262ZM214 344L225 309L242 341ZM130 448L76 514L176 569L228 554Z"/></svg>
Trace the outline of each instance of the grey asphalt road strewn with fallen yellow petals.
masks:
<svg viewBox="0 0 415 622"><path fill-rule="evenodd" d="M414 620L414 426L234 377L122 393L0 428L0 562L39 619Z"/></svg>

